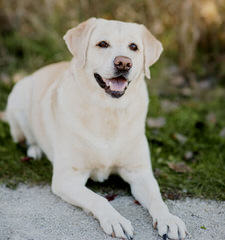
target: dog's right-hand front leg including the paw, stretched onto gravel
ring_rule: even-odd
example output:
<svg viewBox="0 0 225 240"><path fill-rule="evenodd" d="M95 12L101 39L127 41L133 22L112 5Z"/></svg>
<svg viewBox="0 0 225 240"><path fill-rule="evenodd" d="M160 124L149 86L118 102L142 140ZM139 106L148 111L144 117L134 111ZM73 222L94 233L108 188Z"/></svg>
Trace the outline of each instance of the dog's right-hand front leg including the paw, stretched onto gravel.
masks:
<svg viewBox="0 0 225 240"><path fill-rule="evenodd" d="M120 175L130 184L133 196L148 209L153 218L153 225L158 228L163 239L185 238L185 224L169 212L150 167L139 170L122 169Z"/></svg>

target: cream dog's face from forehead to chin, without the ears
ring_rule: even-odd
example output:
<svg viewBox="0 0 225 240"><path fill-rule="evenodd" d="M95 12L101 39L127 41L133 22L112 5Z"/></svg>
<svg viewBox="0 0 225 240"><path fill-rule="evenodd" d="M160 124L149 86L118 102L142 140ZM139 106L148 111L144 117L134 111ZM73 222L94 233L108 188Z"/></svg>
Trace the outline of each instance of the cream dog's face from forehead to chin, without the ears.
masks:
<svg viewBox="0 0 225 240"><path fill-rule="evenodd" d="M89 42L87 67L112 97L121 97L129 83L143 72L140 35L137 24L105 20L96 24Z"/></svg>

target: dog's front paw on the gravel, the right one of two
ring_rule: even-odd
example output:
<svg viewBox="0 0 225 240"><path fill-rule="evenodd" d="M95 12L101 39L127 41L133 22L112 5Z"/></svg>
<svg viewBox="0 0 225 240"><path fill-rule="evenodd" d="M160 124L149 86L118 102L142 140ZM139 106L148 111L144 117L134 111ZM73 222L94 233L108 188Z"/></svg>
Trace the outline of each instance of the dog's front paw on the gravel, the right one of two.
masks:
<svg viewBox="0 0 225 240"><path fill-rule="evenodd" d="M160 216L153 219L154 228L158 229L159 235L166 239L182 240L185 239L187 230L184 222L172 214Z"/></svg>

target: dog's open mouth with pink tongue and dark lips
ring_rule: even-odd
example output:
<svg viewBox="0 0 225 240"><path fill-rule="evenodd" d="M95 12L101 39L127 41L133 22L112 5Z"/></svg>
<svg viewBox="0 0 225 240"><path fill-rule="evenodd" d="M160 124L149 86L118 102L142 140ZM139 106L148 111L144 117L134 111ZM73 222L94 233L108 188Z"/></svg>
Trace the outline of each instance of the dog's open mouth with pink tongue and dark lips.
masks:
<svg viewBox="0 0 225 240"><path fill-rule="evenodd" d="M94 76L99 86L114 98L123 96L129 84L123 75L109 79L104 79L97 73L94 73Z"/></svg>

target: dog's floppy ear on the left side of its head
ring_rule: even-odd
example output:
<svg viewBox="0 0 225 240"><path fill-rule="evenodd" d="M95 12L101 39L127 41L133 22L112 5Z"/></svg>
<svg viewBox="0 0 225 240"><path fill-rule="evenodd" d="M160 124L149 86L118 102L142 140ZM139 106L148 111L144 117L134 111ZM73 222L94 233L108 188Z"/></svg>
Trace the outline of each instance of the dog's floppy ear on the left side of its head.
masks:
<svg viewBox="0 0 225 240"><path fill-rule="evenodd" d="M95 24L96 18L89 18L77 27L68 30L63 37L69 51L75 56L77 67L82 68L85 65L87 47Z"/></svg>

